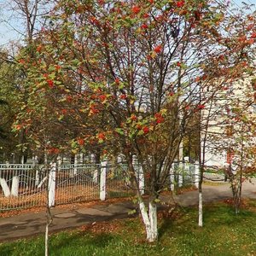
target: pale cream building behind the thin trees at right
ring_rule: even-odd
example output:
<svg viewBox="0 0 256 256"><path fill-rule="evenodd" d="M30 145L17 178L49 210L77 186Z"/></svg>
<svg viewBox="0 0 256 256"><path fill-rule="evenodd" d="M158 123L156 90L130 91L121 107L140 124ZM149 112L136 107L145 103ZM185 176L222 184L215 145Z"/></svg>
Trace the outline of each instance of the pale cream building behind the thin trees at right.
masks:
<svg viewBox="0 0 256 256"><path fill-rule="evenodd" d="M232 165L235 149L239 149L234 147L242 137L249 138L248 147L256 147L256 77L245 75L221 87L201 111L201 148L206 137L206 166Z"/></svg>

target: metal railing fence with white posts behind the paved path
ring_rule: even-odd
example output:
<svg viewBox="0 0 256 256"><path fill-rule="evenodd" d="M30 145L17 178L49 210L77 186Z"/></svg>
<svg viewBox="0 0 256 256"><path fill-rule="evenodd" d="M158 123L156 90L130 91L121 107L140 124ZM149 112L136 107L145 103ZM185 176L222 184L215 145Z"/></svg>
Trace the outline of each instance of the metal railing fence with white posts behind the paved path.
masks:
<svg viewBox="0 0 256 256"><path fill-rule="evenodd" d="M43 207L49 195L49 206L106 200L135 195L129 181L128 167L124 164L61 165L49 168L33 165L0 165L0 210ZM146 184L142 169L137 166L141 192ZM182 186L199 181L199 168L191 164L174 164L166 186ZM47 194L48 193L48 194Z"/></svg>

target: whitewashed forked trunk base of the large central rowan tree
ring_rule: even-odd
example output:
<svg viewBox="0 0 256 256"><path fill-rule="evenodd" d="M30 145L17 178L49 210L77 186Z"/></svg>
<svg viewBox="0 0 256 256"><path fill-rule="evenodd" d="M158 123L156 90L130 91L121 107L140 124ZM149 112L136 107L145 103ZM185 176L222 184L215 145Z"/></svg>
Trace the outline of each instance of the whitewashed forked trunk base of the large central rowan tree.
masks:
<svg viewBox="0 0 256 256"><path fill-rule="evenodd" d="M157 207L154 202L149 202L149 211L147 212L145 203L141 201L139 203L140 212L143 217L143 224L145 225L147 240L154 242L157 240Z"/></svg>

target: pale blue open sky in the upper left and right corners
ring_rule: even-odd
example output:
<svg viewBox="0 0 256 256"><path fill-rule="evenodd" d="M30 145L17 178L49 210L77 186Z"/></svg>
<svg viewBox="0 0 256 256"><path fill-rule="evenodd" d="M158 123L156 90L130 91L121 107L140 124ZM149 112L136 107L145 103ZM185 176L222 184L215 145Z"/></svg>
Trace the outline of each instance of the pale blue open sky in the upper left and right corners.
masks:
<svg viewBox="0 0 256 256"><path fill-rule="evenodd" d="M220 0L218 1L221 2ZM242 6L241 2L256 4L256 0L230 0L230 3L234 3L236 8ZM22 33L24 31L24 26L22 26L20 20L16 19L13 12L6 10L9 3L9 0L0 0L0 45L8 45L10 40L20 40L22 34L19 32Z"/></svg>

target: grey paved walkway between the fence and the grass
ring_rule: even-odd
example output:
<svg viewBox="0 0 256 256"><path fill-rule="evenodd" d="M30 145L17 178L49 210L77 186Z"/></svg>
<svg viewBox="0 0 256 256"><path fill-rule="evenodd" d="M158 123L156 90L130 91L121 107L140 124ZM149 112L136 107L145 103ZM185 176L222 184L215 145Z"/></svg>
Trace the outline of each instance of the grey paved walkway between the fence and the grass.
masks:
<svg viewBox="0 0 256 256"><path fill-rule="evenodd" d="M203 198L205 202L223 200L230 198L229 184L218 186L205 185L203 187ZM256 198L256 183L245 183L243 186L243 197ZM162 197L163 201L170 204L177 202L183 207L193 206L198 202L197 191L185 192L182 195L170 195ZM136 206L131 201L122 201L108 204L98 204L90 207L53 208L53 224L49 231L55 232L68 228L75 228L94 222L109 221L117 218L129 218L128 212ZM0 219L0 241L15 240L20 237L34 236L44 233L45 212L26 212L20 215Z"/></svg>

